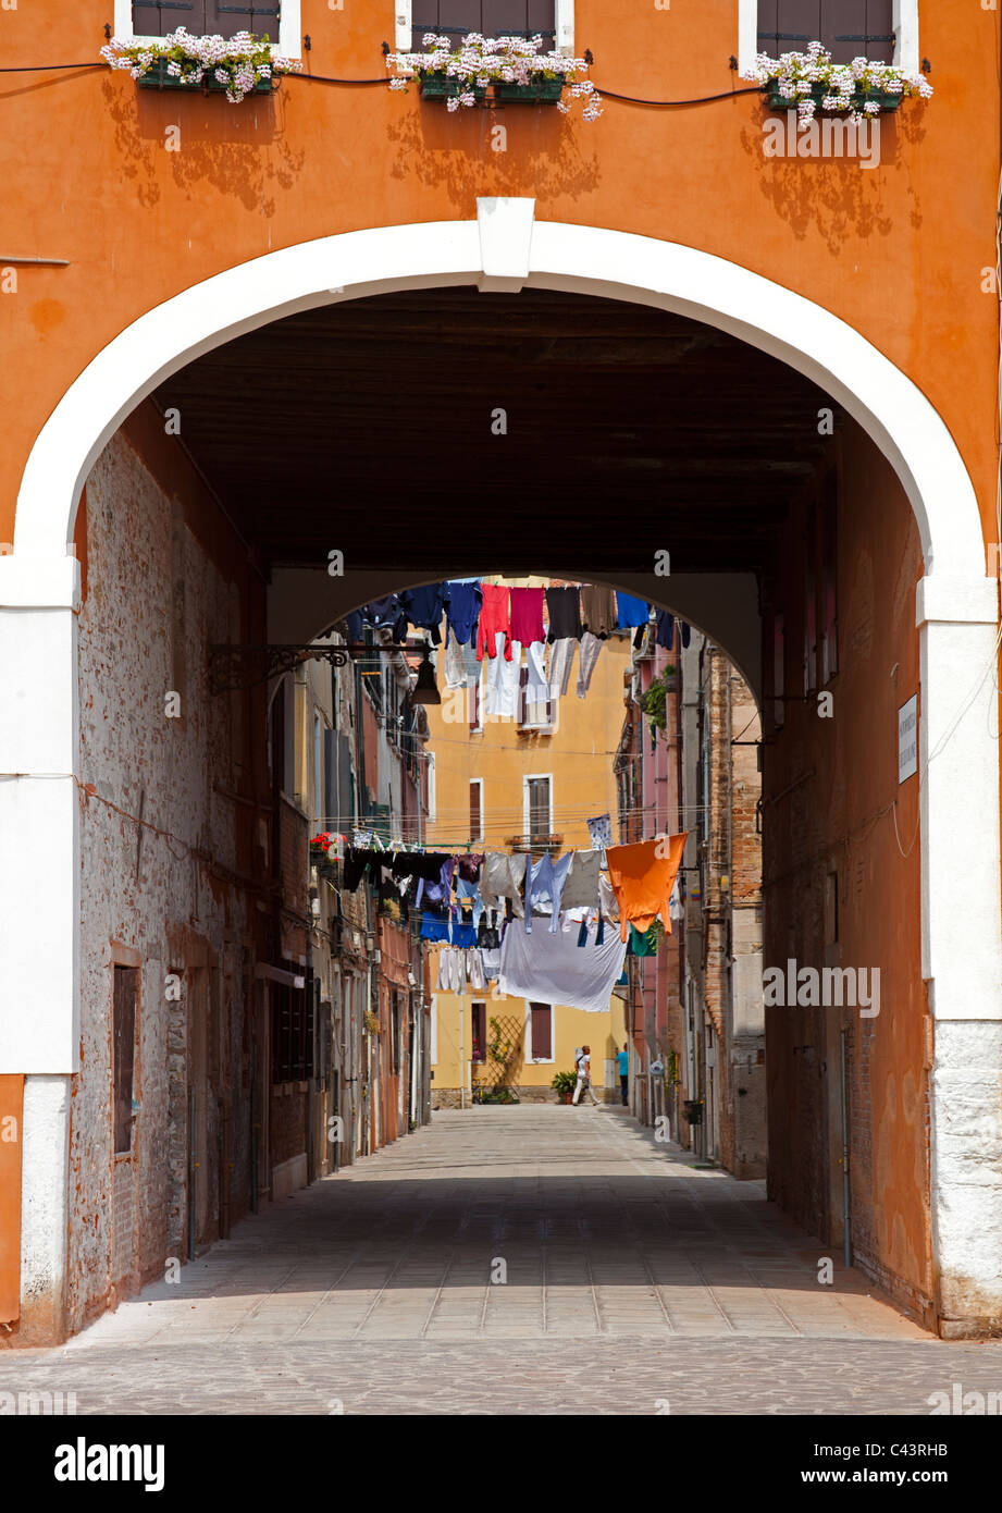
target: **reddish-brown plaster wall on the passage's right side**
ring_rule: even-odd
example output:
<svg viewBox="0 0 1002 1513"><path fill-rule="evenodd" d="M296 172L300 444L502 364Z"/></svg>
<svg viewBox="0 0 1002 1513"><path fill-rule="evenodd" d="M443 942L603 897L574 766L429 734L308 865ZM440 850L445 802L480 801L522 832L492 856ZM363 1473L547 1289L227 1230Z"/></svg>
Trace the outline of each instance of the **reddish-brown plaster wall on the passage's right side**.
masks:
<svg viewBox="0 0 1002 1513"><path fill-rule="evenodd" d="M830 719L804 701L804 520L777 572L786 725L765 764L765 965L880 970L880 1014L766 1008L769 1191L828 1244L842 1238L839 1032L849 1032L852 1244L858 1265L928 1316L928 1049L920 976L917 778L898 785L898 708L919 687L922 560L896 478L852 424L839 475L839 672ZM804 510L809 499L804 499ZM801 701L801 702L798 702ZM769 729L769 735L774 732ZM896 814L892 809L898 803ZM896 832L895 832L896 819ZM837 941L825 878L837 878ZM958 885L963 881L958 879ZM895 929L886 911L895 911Z"/></svg>

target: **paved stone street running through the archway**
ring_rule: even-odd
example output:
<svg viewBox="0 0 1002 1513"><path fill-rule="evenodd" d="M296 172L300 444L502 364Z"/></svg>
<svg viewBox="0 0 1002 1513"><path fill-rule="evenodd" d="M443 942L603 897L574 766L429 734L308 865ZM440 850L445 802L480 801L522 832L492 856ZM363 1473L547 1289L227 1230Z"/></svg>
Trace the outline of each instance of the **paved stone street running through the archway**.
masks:
<svg viewBox="0 0 1002 1513"><path fill-rule="evenodd" d="M620 1109L476 1108L329 1177L0 1390L80 1413L928 1413L1002 1390L834 1262L763 1183ZM493 1280L497 1278L497 1280ZM502 1280L503 1278L503 1280Z"/></svg>

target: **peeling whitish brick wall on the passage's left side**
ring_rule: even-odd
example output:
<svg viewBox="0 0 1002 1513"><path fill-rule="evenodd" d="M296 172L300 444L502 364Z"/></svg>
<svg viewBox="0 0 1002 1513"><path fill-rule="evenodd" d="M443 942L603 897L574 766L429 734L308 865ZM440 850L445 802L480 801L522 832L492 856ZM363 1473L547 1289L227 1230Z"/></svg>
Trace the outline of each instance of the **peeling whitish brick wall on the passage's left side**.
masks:
<svg viewBox="0 0 1002 1513"><path fill-rule="evenodd" d="M219 1232L227 1126L233 1209L246 1192L248 932L233 803L230 702L204 648L225 640L239 589L119 433L88 483L80 613L82 1070L73 1086L70 1327L181 1254L187 1089L201 1100L199 1239ZM181 693L180 719L165 696ZM138 823L142 816L144 825ZM154 829L156 828L156 829ZM113 961L139 967L133 1147L113 1151ZM180 1002L166 974L184 973ZM204 974L201 1070L193 973ZM227 1121L227 1111L230 1118ZM227 1168L228 1170L228 1168Z"/></svg>

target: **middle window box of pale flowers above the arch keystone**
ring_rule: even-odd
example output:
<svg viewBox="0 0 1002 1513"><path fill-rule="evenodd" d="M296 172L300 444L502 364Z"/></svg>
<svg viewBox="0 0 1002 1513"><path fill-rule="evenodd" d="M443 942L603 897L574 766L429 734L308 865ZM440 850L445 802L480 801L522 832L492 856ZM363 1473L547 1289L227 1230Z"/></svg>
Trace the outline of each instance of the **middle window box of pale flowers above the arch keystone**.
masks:
<svg viewBox="0 0 1002 1513"><path fill-rule="evenodd" d="M564 88L571 100L583 100L583 118L602 115L602 100L589 79L585 57L543 51L541 36L485 38L470 32L456 48L450 38L426 32L425 53L390 53L388 68L404 70L390 80L390 89L407 91L417 74L423 100L444 100L449 110L481 104L491 89L499 104L555 104L567 113Z"/></svg>

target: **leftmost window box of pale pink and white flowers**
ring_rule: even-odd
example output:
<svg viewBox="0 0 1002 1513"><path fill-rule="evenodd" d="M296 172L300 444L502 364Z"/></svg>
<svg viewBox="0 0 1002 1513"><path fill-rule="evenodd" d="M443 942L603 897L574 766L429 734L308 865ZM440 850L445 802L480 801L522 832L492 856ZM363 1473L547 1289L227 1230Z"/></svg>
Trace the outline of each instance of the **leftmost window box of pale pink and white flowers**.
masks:
<svg viewBox="0 0 1002 1513"><path fill-rule="evenodd" d="M141 89L201 88L239 104L248 94L271 94L277 74L302 68L293 57L274 57L268 33L254 36L192 36L183 26L151 42L113 36L101 48L110 68L127 68Z"/></svg>

